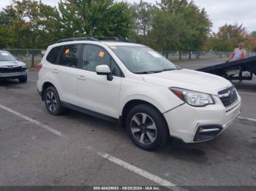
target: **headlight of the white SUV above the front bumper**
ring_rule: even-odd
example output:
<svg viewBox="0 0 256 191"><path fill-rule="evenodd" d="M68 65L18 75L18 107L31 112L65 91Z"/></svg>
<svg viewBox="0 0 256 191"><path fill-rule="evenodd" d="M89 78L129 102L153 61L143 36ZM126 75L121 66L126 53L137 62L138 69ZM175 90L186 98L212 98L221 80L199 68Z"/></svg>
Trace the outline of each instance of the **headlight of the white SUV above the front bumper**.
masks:
<svg viewBox="0 0 256 191"><path fill-rule="evenodd" d="M191 106L207 106L209 104L215 104L214 99L207 93L200 93L177 87L170 87L169 89L177 95L178 98Z"/></svg>

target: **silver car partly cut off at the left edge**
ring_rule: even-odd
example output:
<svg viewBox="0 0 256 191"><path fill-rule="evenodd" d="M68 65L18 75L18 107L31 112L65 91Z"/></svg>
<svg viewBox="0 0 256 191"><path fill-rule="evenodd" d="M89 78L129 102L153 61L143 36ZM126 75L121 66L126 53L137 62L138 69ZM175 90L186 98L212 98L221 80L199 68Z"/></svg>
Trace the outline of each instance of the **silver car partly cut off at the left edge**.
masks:
<svg viewBox="0 0 256 191"><path fill-rule="evenodd" d="M0 50L0 79L18 79L26 83L26 64L18 61L10 52Z"/></svg>

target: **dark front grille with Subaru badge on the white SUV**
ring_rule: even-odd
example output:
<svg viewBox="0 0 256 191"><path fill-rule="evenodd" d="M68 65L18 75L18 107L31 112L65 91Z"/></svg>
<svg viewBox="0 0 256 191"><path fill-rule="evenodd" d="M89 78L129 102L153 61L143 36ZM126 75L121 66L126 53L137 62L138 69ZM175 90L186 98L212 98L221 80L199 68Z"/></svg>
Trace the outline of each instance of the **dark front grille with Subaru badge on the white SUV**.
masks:
<svg viewBox="0 0 256 191"><path fill-rule="evenodd" d="M238 99L236 88L234 86L219 91L218 95L224 106L230 106Z"/></svg>

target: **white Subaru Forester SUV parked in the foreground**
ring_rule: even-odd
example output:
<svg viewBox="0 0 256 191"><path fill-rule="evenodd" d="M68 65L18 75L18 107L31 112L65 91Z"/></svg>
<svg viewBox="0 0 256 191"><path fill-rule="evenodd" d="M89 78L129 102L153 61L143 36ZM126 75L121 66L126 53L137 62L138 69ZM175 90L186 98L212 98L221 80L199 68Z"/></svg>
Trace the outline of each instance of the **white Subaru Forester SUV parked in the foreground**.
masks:
<svg viewBox="0 0 256 191"><path fill-rule="evenodd" d="M142 149L170 137L213 139L240 114L241 98L226 79L180 69L141 44L88 37L48 47L37 89L48 112L64 109L118 122Z"/></svg>

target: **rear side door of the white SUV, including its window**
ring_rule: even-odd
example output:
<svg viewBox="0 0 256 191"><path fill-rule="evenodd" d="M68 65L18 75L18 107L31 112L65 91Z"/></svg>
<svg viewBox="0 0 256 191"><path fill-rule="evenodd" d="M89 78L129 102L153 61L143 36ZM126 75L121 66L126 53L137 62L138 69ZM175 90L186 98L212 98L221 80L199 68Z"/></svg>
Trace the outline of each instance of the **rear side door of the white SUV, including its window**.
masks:
<svg viewBox="0 0 256 191"><path fill-rule="evenodd" d="M81 47L81 44L62 46L57 64L52 69L57 78L61 101L74 105L78 105L77 76Z"/></svg>

